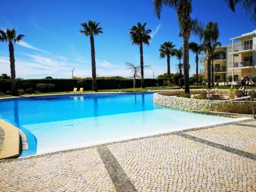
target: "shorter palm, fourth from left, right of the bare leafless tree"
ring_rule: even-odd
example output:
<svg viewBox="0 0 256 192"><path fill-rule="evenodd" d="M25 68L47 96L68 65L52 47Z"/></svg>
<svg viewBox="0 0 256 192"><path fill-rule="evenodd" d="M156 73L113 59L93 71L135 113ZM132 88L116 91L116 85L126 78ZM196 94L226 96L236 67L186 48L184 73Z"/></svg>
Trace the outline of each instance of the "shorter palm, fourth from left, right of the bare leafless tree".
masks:
<svg viewBox="0 0 256 192"><path fill-rule="evenodd" d="M168 82L170 81L170 56L175 55L175 45L173 45L173 42L166 41L160 46L160 58L167 57L167 76L168 76Z"/></svg>

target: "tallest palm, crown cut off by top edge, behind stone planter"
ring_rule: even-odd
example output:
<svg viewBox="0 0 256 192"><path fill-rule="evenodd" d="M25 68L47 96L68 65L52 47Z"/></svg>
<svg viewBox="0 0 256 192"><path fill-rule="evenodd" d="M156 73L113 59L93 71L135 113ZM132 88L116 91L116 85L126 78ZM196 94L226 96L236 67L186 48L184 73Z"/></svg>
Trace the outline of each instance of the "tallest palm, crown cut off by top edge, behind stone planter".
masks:
<svg viewBox="0 0 256 192"><path fill-rule="evenodd" d="M191 0L153 0L153 9L160 19L162 6L171 7L177 12L178 24L180 27L179 36L183 37L183 70L185 93L189 93L189 47L188 39L190 37L193 20L190 18L192 12Z"/></svg>

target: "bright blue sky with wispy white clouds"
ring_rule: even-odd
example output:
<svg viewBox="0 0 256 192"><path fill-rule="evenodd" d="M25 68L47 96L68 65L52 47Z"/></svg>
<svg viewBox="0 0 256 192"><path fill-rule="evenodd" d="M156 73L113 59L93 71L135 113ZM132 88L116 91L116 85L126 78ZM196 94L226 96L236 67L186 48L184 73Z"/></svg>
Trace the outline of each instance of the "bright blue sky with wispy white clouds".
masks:
<svg viewBox="0 0 256 192"><path fill-rule="evenodd" d="M222 45L231 44L231 37L255 30L250 16L240 5L233 13L224 0L193 0L192 18L203 23L218 22ZM173 41L176 48L182 45L176 12L164 8L158 19L151 0L1 0L0 29L16 28L24 34L15 49L16 77L20 78L71 78L91 76L90 39L80 34L81 23L95 20L103 27L103 34L95 36L96 70L98 76L131 77L125 62L140 64L139 47L132 45L129 30L137 22L147 23L153 30L150 45L144 45L145 78L167 71L166 58L160 59L159 47ZM191 35L189 41L200 42ZM172 73L177 72L178 60L170 59ZM195 55L189 53L189 75L196 72ZM202 66L199 65L199 69ZM7 42L0 42L0 74L10 75Z"/></svg>

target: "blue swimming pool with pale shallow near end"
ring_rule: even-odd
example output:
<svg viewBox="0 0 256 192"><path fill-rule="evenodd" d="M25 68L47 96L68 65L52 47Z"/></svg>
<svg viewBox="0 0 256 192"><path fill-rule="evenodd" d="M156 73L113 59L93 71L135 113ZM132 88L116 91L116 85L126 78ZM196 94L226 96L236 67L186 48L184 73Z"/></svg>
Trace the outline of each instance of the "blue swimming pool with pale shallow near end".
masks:
<svg viewBox="0 0 256 192"><path fill-rule="evenodd" d="M39 96L0 101L0 118L22 130L44 154L111 141L231 122L232 118L162 108L153 93Z"/></svg>

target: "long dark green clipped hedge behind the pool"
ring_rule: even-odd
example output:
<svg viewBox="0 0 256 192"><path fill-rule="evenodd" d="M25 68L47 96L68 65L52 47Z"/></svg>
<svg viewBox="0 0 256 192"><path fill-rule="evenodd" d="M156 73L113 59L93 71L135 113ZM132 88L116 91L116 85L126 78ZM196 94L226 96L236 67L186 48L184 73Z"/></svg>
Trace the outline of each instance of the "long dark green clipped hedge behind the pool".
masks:
<svg viewBox="0 0 256 192"><path fill-rule="evenodd" d="M157 83L159 86L163 85L163 81L166 79L144 79L145 87L156 87ZM28 89L32 88L34 91L37 90L36 84L55 84L52 92L60 91L72 91L74 87L83 87L84 90L92 90L92 79L24 79L16 80L18 89ZM140 79L136 79L136 87L139 88L141 84ZM133 88L133 79L97 79L97 86L99 90L103 89L123 89L123 88ZM0 92L6 93L6 91L11 90L11 80L2 79L0 80Z"/></svg>

